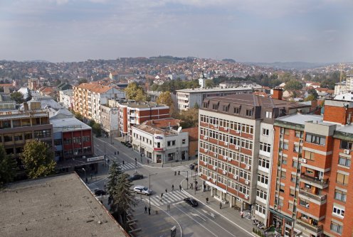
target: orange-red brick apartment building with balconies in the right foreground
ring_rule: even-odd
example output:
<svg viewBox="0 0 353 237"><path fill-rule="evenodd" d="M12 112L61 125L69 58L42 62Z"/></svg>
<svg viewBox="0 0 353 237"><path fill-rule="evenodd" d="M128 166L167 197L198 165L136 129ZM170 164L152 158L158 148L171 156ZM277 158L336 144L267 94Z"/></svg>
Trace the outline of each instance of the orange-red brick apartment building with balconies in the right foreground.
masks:
<svg viewBox="0 0 353 237"><path fill-rule="evenodd" d="M285 236L353 236L352 101L275 120L268 225ZM351 217L349 217L351 216Z"/></svg>

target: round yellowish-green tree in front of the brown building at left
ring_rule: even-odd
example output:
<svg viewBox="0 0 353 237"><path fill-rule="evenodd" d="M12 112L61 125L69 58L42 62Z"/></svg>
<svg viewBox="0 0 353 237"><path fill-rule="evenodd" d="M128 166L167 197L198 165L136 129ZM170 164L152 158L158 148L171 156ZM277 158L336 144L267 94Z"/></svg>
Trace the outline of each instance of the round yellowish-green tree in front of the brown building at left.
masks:
<svg viewBox="0 0 353 237"><path fill-rule="evenodd" d="M31 178L51 175L56 167L53 150L41 140L27 141L21 159Z"/></svg>

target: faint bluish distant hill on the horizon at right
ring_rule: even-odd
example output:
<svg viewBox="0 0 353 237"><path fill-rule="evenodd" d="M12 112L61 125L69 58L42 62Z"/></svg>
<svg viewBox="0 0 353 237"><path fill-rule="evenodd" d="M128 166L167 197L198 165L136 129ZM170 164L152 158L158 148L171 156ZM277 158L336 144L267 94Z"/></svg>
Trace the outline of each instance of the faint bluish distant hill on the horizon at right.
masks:
<svg viewBox="0 0 353 237"><path fill-rule="evenodd" d="M250 65L257 65L260 67L273 67L283 70L305 70L315 67L324 67L332 63L320 62L245 62Z"/></svg>

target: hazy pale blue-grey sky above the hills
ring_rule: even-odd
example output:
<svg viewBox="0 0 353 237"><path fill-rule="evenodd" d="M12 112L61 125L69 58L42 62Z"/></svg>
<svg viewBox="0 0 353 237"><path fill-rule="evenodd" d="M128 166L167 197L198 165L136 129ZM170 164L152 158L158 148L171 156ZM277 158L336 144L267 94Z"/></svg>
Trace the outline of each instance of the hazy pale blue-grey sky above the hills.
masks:
<svg viewBox="0 0 353 237"><path fill-rule="evenodd" d="M353 0L0 0L0 60L353 62Z"/></svg>

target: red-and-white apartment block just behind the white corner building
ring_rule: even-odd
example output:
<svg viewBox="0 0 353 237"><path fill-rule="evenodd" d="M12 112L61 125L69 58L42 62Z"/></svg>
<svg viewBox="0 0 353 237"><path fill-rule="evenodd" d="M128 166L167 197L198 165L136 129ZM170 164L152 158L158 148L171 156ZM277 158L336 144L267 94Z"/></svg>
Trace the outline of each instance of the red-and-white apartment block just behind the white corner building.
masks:
<svg viewBox="0 0 353 237"><path fill-rule="evenodd" d="M109 106L118 108L119 133L126 141L132 141L132 127L147 120L169 118L169 106L154 102L109 100Z"/></svg>

